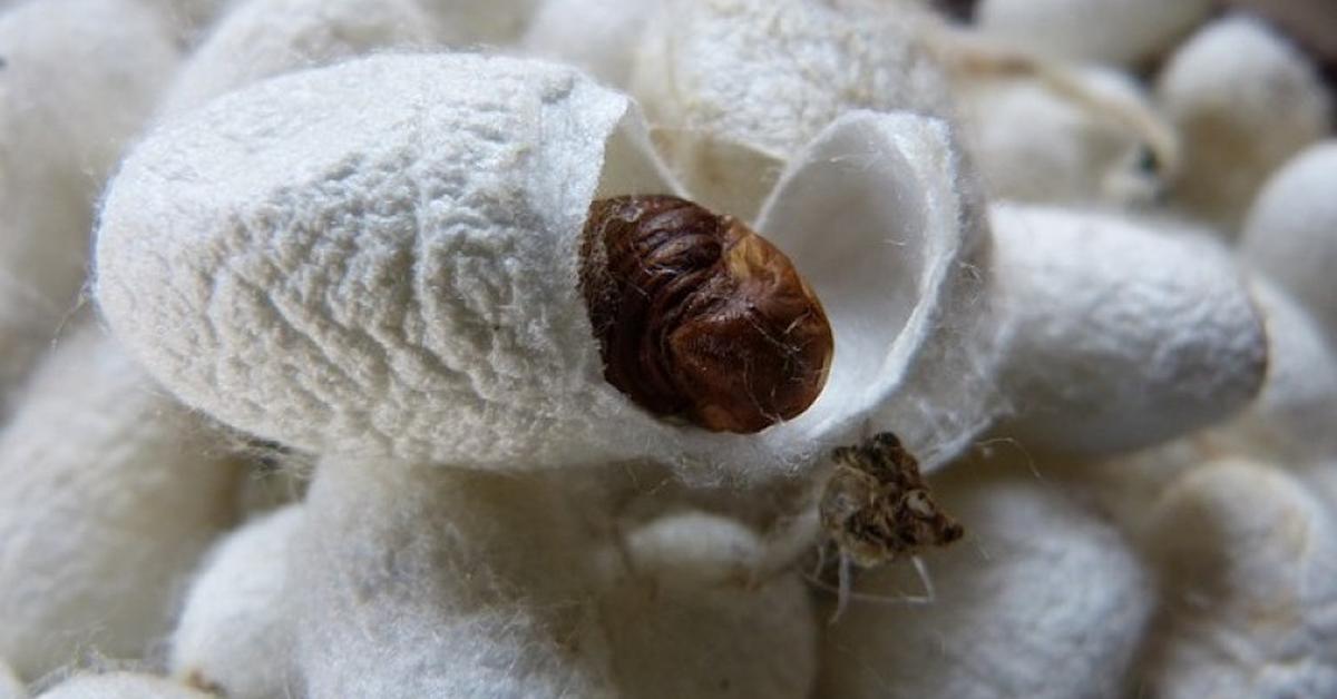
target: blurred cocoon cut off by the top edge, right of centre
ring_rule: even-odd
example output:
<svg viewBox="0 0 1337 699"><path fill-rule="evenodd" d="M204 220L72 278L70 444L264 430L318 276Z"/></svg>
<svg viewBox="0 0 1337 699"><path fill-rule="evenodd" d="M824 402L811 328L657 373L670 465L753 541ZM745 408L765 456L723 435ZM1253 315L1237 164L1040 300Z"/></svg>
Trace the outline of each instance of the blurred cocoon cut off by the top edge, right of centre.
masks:
<svg viewBox="0 0 1337 699"><path fill-rule="evenodd" d="M976 23L1031 51L1134 65L1169 49L1211 9L1211 0L983 0Z"/></svg>

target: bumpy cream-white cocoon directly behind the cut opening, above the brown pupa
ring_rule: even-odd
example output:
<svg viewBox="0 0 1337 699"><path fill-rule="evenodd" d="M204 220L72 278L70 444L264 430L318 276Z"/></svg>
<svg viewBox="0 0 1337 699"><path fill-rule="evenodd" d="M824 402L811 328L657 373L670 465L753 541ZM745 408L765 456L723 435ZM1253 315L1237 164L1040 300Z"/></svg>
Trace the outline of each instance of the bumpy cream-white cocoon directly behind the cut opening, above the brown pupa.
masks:
<svg viewBox="0 0 1337 699"><path fill-rule="evenodd" d="M845 111L948 114L931 27L905 3L664 0L631 92L693 198L753 219L786 160Z"/></svg>

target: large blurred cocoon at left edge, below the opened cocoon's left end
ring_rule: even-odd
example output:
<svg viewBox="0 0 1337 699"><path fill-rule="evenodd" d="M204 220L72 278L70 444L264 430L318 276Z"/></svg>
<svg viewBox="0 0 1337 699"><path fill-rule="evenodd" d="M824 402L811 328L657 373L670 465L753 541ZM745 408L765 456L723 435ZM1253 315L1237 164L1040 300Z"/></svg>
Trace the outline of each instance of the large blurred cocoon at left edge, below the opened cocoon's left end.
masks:
<svg viewBox="0 0 1337 699"><path fill-rule="evenodd" d="M139 658L231 519L237 468L98 329L71 333L0 433L0 656L27 679Z"/></svg>

